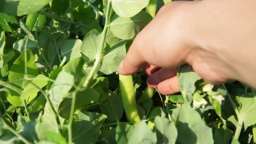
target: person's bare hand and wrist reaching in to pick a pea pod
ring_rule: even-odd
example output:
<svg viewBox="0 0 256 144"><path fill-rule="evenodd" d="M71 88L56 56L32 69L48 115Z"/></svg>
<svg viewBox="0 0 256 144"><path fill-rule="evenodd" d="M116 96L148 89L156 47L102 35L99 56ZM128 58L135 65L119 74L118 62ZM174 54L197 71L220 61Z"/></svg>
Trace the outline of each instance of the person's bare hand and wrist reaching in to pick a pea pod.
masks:
<svg viewBox="0 0 256 144"><path fill-rule="evenodd" d="M256 1L177 1L158 11L135 38L118 71L144 68L162 94L179 92L176 68L188 63L208 83L256 87ZM159 70L160 69L160 70Z"/></svg>

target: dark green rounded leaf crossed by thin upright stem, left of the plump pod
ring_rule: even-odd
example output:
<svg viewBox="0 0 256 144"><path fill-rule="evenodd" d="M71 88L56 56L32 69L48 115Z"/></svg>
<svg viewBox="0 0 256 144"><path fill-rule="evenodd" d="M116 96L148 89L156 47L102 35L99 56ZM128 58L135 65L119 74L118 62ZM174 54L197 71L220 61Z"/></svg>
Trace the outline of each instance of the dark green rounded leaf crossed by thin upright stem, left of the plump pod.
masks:
<svg viewBox="0 0 256 144"><path fill-rule="evenodd" d="M80 109L88 104L99 101L98 91L92 88L86 88L84 91L79 91L75 99L75 109ZM67 97L59 104L59 115L68 119L71 109L72 97Z"/></svg>

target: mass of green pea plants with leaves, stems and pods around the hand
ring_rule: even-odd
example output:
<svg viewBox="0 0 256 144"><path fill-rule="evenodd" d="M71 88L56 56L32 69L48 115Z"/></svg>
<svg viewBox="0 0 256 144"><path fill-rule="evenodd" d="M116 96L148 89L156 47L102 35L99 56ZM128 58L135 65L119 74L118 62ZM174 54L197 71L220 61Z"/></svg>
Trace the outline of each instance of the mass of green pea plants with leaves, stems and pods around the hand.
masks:
<svg viewBox="0 0 256 144"><path fill-rule="evenodd" d="M256 91L205 83L180 93L119 75L134 37L171 0L0 0L0 144L253 144Z"/></svg>

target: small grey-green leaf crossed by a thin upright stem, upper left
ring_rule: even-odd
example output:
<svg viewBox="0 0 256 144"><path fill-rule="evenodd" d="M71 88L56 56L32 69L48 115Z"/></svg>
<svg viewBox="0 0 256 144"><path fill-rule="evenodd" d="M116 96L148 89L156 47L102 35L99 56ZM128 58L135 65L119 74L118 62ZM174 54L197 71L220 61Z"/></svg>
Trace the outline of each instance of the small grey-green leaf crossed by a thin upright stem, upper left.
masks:
<svg viewBox="0 0 256 144"><path fill-rule="evenodd" d="M21 52L25 49L25 45L26 45L26 40L21 39L13 43L13 48ZM29 49L37 48L37 43L34 40L28 39L27 48Z"/></svg>

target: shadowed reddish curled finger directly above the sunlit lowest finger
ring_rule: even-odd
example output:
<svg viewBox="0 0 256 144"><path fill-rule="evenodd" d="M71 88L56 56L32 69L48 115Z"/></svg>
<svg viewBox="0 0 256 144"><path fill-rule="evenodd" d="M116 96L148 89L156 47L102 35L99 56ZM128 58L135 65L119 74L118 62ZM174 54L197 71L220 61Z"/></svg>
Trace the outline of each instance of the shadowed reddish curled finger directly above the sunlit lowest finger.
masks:
<svg viewBox="0 0 256 144"><path fill-rule="evenodd" d="M158 88L158 84L161 83L164 80L167 80L171 77L174 77L176 75L175 69L160 69L159 71L153 73L152 75L149 75L147 79L147 85L150 87Z"/></svg>

